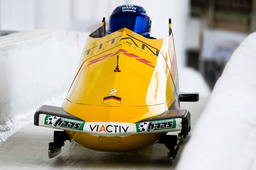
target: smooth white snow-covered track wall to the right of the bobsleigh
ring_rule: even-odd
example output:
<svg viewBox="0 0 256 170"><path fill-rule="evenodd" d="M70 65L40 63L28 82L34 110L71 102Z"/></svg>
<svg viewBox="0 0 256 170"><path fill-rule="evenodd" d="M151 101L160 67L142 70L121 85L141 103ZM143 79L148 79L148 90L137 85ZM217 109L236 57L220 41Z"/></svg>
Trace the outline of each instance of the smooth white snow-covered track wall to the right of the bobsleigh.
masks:
<svg viewBox="0 0 256 170"><path fill-rule="evenodd" d="M226 64L176 169L256 169L255 54L252 33Z"/></svg>

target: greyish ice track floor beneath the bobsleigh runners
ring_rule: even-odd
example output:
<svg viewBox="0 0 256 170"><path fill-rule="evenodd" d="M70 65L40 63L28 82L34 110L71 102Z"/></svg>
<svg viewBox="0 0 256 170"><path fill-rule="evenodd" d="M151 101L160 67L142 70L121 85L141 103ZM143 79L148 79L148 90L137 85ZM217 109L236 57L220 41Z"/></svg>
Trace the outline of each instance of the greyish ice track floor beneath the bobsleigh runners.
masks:
<svg viewBox="0 0 256 170"><path fill-rule="evenodd" d="M183 102L182 108L190 110L191 126L196 124L208 98L199 102ZM48 158L48 143L53 139L54 129L34 126L33 123L0 144L0 169L174 169L178 164L184 144L180 144L174 164L170 166L168 150L162 144L136 152L100 152L85 149L75 143L65 142L62 152Z"/></svg>

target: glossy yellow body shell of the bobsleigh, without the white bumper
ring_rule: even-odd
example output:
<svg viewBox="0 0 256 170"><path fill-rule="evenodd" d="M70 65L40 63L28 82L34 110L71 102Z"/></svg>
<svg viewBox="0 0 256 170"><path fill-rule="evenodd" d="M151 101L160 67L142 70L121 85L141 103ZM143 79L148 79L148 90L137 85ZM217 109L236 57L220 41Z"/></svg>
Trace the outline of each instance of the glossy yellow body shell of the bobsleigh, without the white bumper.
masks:
<svg viewBox="0 0 256 170"><path fill-rule="evenodd" d="M120 72L114 71L117 64ZM63 108L86 122L136 123L171 105L179 108L177 74L172 34L147 39L123 28L102 38L89 37ZM104 151L141 149L164 135L121 138L66 132L79 145Z"/></svg>

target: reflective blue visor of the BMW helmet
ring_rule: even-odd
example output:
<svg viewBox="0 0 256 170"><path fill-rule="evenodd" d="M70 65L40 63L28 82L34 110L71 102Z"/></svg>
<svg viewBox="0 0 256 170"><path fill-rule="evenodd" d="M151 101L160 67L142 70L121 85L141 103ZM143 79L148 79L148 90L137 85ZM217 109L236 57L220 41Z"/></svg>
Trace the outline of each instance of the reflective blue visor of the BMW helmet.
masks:
<svg viewBox="0 0 256 170"><path fill-rule="evenodd" d="M117 14L110 16L109 31L115 32L124 27L136 32L150 32L150 18L145 15Z"/></svg>

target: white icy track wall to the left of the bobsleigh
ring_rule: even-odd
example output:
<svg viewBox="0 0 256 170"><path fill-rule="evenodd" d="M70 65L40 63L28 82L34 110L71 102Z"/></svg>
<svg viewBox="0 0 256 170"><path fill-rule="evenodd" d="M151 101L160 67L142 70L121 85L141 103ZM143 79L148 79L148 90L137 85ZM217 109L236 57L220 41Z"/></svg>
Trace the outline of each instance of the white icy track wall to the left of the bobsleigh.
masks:
<svg viewBox="0 0 256 170"><path fill-rule="evenodd" d="M0 37L0 142L33 121L31 110L68 90L87 36L37 30Z"/></svg>

